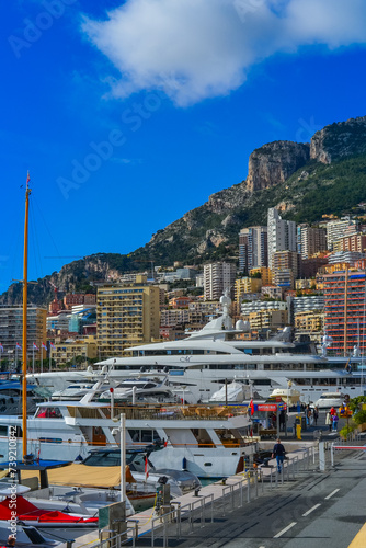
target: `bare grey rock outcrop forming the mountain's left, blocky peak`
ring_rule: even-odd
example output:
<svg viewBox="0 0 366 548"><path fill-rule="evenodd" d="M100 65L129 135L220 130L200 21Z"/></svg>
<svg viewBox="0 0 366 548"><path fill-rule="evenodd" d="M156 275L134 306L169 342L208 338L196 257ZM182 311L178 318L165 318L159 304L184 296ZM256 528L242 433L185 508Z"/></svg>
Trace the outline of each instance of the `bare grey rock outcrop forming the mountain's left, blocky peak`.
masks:
<svg viewBox="0 0 366 548"><path fill-rule="evenodd" d="M285 182L308 163L309 158L308 144L278 140L258 148L249 158L248 191L252 193Z"/></svg>

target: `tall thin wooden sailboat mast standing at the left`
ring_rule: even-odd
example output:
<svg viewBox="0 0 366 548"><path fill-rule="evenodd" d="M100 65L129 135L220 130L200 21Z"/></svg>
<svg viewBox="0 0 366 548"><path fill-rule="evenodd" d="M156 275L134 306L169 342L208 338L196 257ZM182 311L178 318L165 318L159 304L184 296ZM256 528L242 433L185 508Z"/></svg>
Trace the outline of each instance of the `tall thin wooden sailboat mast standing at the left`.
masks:
<svg viewBox="0 0 366 548"><path fill-rule="evenodd" d="M30 172L26 176L26 189L25 189L25 220L24 220L24 255L23 255L23 390L22 390L22 403L23 403L23 459L26 455L27 437L26 437L26 340L27 340L27 261L28 261L28 209L30 209L30 194L31 189L30 183Z"/></svg>

